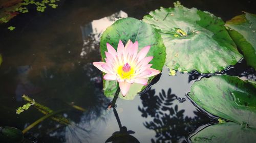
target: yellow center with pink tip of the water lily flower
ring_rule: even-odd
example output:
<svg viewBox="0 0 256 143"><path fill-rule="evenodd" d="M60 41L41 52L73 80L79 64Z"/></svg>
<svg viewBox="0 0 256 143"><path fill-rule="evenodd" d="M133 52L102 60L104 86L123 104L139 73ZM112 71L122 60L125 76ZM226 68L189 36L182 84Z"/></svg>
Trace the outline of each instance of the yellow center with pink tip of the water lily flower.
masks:
<svg viewBox="0 0 256 143"><path fill-rule="evenodd" d="M134 76L134 68L126 63L123 66L118 67L117 74L121 79L131 79Z"/></svg>

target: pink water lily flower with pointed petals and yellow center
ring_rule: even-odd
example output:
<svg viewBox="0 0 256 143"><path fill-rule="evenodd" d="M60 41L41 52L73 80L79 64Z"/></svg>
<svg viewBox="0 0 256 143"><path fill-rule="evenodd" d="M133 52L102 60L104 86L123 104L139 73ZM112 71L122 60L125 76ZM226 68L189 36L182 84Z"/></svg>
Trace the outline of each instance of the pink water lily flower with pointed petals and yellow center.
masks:
<svg viewBox="0 0 256 143"><path fill-rule="evenodd" d="M138 41L135 43L129 40L124 46L119 40L117 51L106 43L105 61L93 62L93 65L102 72L105 80L117 80L123 96L127 94L132 83L147 85L148 77L157 75L159 70L151 68L152 64L148 64L153 56L146 56L150 50L150 46L145 46L138 53Z"/></svg>

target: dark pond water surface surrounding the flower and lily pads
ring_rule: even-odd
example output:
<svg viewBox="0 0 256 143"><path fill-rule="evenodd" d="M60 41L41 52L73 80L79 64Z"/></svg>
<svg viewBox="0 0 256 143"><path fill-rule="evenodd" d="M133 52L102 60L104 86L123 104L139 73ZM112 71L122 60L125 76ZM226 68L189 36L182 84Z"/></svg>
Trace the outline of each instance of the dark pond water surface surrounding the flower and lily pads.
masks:
<svg viewBox="0 0 256 143"><path fill-rule="evenodd" d="M20 14L0 25L4 60L0 67L0 126L23 130L44 116L33 107L16 115L15 109L26 103L23 94L52 110L65 109L61 115L71 122L63 126L47 119L25 134L27 142L97 143L117 132L125 135L115 139L127 142L188 142L188 136L199 127L216 123L216 117L186 97L190 85L202 75L169 76L167 68L146 92L134 100L118 99L116 110L106 110L111 99L103 95L101 72L92 65L100 61L100 34L116 17L142 19L149 11L173 6L173 2L63 0L57 9ZM256 13L253 1L181 3L209 11L224 21L241 11ZM16 27L12 32L7 29L10 25ZM255 80L255 71L244 61L225 73Z"/></svg>

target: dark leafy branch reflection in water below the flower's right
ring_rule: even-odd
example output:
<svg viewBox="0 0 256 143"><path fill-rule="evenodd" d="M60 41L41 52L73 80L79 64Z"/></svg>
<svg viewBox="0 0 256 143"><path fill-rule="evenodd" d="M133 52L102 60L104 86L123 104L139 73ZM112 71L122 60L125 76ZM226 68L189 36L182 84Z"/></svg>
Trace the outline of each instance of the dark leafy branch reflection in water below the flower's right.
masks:
<svg viewBox="0 0 256 143"><path fill-rule="evenodd" d="M155 90L150 90L141 95L143 107L139 106L144 118L154 118L145 122L144 126L156 132L154 142L186 142L189 132L194 131L202 124L209 123L209 118L200 111L194 111L195 117L184 116L184 109L179 109L173 101L177 99L169 88L167 93L155 95Z"/></svg>

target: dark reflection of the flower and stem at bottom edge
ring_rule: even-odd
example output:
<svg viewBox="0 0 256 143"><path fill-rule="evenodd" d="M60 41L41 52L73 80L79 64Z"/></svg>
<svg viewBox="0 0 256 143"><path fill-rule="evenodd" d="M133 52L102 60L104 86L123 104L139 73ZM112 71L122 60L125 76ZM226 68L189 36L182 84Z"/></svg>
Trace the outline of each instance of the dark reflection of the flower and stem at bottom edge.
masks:
<svg viewBox="0 0 256 143"><path fill-rule="evenodd" d="M111 137L106 139L105 142L113 142L113 143L140 143L137 138L130 134L134 134L135 132L132 130L127 130L125 126L122 126L121 121L118 117L118 113L115 108L113 108L118 126L119 126L119 131L116 131L112 134Z"/></svg>

